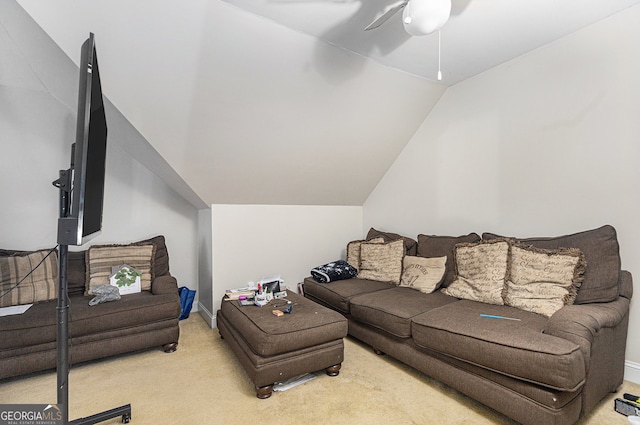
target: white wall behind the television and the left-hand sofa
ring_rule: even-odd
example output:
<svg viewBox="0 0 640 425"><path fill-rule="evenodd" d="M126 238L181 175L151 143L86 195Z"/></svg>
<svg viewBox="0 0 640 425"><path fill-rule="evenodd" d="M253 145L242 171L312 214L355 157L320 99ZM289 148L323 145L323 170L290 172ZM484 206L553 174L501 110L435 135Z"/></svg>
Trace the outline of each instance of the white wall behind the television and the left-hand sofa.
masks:
<svg viewBox="0 0 640 425"><path fill-rule="evenodd" d="M0 51L0 247L53 247L59 192L51 182L69 167L78 67L14 2L0 2ZM164 234L172 274L197 288L197 209L130 155L147 142L110 102L105 107L103 231L90 243Z"/></svg>

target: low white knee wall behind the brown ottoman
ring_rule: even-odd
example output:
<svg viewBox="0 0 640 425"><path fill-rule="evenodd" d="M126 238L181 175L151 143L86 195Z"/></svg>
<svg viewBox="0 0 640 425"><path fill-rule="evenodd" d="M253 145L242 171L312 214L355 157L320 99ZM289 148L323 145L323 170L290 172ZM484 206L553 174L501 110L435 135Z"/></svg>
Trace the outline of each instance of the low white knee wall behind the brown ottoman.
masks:
<svg viewBox="0 0 640 425"><path fill-rule="evenodd" d="M213 314L226 289L263 277L280 275L297 292L312 268L344 259L362 237L362 207L212 205L211 216Z"/></svg>

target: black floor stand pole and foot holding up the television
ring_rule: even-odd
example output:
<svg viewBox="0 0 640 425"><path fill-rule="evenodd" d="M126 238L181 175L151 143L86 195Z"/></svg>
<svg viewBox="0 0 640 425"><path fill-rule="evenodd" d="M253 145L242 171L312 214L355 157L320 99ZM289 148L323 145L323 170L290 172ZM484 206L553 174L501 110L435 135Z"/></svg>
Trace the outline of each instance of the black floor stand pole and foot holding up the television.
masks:
<svg viewBox="0 0 640 425"><path fill-rule="evenodd" d="M73 154L72 154L73 159ZM60 170L60 177L53 182L53 185L60 189L60 219L69 216L71 193L71 168ZM61 224L58 224L58 240L60 237ZM122 423L129 423L131 420L131 405L116 407L86 418L75 419L69 422L69 298L67 295L67 264L69 245L58 245L58 304L56 307L56 371L58 375L58 407L62 412L62 423L64 425L90 425L107 421L118 416L122 416Z"/></svg>

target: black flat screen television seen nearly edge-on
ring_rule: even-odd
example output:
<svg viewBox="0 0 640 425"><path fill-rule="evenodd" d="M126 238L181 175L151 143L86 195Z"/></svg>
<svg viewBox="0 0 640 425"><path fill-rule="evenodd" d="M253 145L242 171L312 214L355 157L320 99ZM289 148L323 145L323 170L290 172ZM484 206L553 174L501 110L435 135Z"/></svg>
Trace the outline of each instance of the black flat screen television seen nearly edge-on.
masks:
<svg viewBox="0 0 640 425"><path fill-rule="evenodd" d="M58 221L58 243L83 245L102 230L107 120L93 33L82 44L76 140L71 153L71 199Z"/></svg>

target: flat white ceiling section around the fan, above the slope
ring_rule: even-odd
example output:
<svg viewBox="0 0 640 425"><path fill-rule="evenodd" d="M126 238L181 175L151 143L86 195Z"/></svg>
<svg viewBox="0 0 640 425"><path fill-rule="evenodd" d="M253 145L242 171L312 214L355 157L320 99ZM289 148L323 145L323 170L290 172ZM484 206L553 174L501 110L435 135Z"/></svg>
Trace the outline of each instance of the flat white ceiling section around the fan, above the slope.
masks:
<svg viewBox="0 0 640 425"><path fill-rule="evenodd" d="M224 0L248 12L430 80L438 34L411 37L397 13L363 31L397 0ZM426 1L426 0L412 0ZM640 0L452 0L443 27L442 83L450 86L544 46Z"/></svg>

